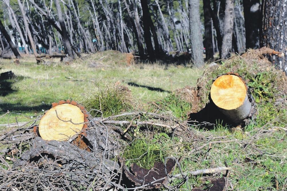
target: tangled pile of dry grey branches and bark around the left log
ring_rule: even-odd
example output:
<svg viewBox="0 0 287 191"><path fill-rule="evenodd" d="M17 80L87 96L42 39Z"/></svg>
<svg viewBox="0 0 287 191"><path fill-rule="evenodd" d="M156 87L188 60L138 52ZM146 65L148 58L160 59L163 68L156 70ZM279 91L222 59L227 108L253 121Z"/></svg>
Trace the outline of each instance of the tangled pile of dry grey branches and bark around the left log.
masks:
<svg viewBox="0 0 287 191"><path fill-rule="evenodd" d="M147 115L153 120L136 120ZM174 157L166 157L164 163L156 162L152 169L143 169L135 163L128 168L120 153L133 139L129 135L131 126L164 128L171 136L189 137L191 141L201 139L195 137L186 122L169 116L129 112L91 118L84 135L80 132L68 141L43 140L35 125L38 120L40 118L0 136L0 190L150 190L161 187L177 190L189 176L231 169L215 167L184 172L181 159ZM222 185L223 190L226 184Z"/></svg>

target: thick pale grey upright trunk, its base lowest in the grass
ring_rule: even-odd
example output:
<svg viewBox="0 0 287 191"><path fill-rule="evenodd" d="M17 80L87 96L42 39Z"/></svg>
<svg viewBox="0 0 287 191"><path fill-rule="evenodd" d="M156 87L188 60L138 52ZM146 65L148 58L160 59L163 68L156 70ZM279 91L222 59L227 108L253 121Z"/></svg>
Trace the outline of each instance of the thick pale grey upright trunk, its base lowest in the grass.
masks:
<svg viewBox="0 0 287 191"><path fill-rule="evenodd" d="M203 66L203 39L201 34L199 0L189 0L189 30L191 59L196 67Z"/></svg>

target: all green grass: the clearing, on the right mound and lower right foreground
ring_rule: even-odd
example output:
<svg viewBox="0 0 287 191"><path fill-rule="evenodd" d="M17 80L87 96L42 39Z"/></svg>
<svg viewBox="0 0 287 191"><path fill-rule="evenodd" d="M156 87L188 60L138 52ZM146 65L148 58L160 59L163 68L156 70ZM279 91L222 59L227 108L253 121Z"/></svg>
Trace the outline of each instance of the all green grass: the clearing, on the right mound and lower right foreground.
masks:
<svg viewBox="0 0 287 191"><path fill-rule="evenodd" d="M195 86L202 74L200 69L184 66L127 65L125 57L117 52L107 52L107 56L104 53L95 54L70 65L58 62L51 66L36 65L29 58L20 62L20 65L15 65L11 61L0 60L0 72L12 70L18 76L1 84L1 114L7 109L13 112L0 118L0 123L15 122L15 117L18 121L27 121L31 117L34 119L43 114L42 110L49 109L52 102L62 99L80 101L88 110L101 108L104 116L133 110L135 107L149 108L148 102L155 102L160 106L160 111L171 111L175 117L185 118L191 104L181 100L172 90L187 85ZM90 67L91 63L96 67ZM284 130L274 127L285 127L287 122L284 117L286 110L274 107L279 93L274 86L277 85L275 76L269 71L256 71L253 74L250 71L259 66L255 64L248 68L246 63L239 60L224 63L205 76L210 79L205 84L206 88L211 86L214 77L230 72L230 67L235 66L234 72L251 79L248 85L259 112L256 123L235 132L221 124L216 124L210 131L193 126L190 139L170 136L159 128L149 127L146 130L146 127L137 126L129 130L135 139L121 155L128 159L126 165L135 162L141 167L150 168L154 162L164 161L165 157L176 157L182 158L183 171L193 171L222 167L226 162L233 168L229 171L229 180L235 190L275 190L275 180L282 190L287 180L287 139ZM131 92L117 89L120 85L127 86ZM129 102L131 100L139 104L133 105ZM95 112L94 115L99 114ZM145 120L143 118L148 120L146 116L141 116L139 120ZM202 150L188 154L194 148L211 141L220 141L222 137L224 141L232 141L207 145ZM179 173L178 168L175 173ZM223 175L216 174L215 178ZM189 177L181 190L208 188L210 182L203 178Z"/></svg>

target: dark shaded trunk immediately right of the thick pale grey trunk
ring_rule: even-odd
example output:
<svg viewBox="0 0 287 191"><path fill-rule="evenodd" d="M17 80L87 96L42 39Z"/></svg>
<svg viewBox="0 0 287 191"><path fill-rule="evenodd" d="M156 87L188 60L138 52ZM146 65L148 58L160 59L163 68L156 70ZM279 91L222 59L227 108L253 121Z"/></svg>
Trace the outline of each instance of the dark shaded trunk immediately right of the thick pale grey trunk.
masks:
<svg viewBox="0 0 287 191"><path fill-rule="evenodd" d="M211 12L209 10L210 0L203 1L203 14L204 14L204 47L205 47L205 59L213 59L213 36L212 36L212 19Z"/></svg>

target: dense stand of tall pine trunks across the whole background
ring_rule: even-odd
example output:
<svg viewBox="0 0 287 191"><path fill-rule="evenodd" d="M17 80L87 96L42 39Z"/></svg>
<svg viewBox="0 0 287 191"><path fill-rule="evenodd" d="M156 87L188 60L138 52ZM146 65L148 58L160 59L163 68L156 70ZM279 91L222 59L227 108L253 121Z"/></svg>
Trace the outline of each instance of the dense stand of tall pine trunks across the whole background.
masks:
<svg viewBox="0 0 287 191"><path fill-rule="evenodd" d="M285 52L286 7L280 2L2 0L1 49L4 54L11 41L18 52L35 57L64 51L73 59L104 50L135 52L150 61L181 55L197 66L203 65L202 52L206 60L216 52L222 59L262 46ZM286 71L286 61L277 61Z"/></svg>

